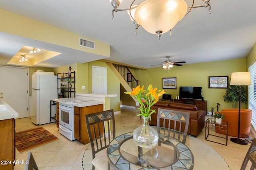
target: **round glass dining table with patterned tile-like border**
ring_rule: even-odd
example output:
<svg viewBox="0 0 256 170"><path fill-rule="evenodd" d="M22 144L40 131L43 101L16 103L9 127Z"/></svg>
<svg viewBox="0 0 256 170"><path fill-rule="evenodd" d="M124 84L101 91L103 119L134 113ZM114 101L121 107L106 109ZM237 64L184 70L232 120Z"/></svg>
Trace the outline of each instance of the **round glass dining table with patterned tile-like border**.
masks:
<svg viewBox="0 0 256 170"><path fill-rule="evenodd" d="M158 131L158 144L153 148L141 148L132 138L136 128L115 129L115 139L108 148L107 158L112 169L116 170L192 170L194 156L182 142L171 137L172 130L154 127ZM130 132L128 132L130 130ZM132 131L131 131L132 130ZM159 146L160 145L160 146Z"/></svg>

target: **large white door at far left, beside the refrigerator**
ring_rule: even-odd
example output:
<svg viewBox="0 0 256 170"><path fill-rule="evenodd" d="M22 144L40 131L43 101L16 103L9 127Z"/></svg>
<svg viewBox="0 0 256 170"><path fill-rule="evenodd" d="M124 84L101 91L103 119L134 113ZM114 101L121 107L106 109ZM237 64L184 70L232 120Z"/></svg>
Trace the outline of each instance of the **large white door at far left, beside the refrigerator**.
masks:
<svg viewBox="0 0 256 170"><path fill-rule="evenodd" d="M28 68L0 66L0 93L18 118L28 117Z"/></svg>

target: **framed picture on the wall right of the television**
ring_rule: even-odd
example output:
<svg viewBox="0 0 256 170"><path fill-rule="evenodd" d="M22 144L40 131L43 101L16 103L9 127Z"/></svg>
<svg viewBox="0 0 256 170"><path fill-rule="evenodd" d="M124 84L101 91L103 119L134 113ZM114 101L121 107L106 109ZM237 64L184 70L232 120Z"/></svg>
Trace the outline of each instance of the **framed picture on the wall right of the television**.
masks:
<svg viewBox="0 0 256 170"><path fill-rule="evenodd" d="M209 76L209 88L228 88L228 76Z"/></svg>

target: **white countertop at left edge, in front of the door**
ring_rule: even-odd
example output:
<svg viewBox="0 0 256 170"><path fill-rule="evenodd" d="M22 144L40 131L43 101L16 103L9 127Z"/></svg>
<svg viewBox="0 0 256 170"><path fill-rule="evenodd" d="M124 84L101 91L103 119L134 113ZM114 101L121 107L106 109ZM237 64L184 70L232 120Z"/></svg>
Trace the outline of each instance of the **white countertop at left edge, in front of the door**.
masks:
<svg viewBox="0 0 256 170"><path fill-rule="evenodd" d="M18 113L12 109L4 100L0 100L0 120L13 119Z"/></svg>

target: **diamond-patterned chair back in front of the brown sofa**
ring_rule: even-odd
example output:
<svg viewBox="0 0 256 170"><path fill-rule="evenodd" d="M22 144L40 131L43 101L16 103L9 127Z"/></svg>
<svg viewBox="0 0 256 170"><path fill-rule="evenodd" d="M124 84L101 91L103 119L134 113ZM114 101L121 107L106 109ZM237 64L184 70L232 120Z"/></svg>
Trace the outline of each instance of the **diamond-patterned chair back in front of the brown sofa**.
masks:
<svg viewBox="0 0 256 170"><path fill-rule="evenodd" d="M188 133L189 117L189 112L158 108L157 126L167 128L166 131L169 136L172 136L185 144Z"/></svg>

